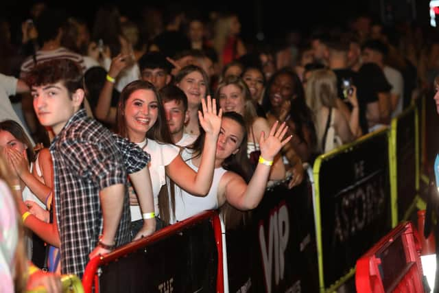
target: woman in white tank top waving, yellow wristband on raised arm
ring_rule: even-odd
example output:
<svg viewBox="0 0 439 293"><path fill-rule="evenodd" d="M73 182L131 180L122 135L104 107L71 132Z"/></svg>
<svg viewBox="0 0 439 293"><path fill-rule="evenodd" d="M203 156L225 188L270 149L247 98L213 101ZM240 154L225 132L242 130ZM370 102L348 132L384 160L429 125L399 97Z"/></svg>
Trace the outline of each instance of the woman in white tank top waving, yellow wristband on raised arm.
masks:
<svg viewBox="0 0 439 293"><path fill-rule="evenodd" d="M201 198L176 188L174 201L171 200L174 202L170 208L174 212L171 223L185 220L207 209L217 209L226 202L241 211L254 209L261 202L274 157L291 136L283 139L287 132L285 123L281 126L274 124L268 134L261 132L258 141L261 156L251 176L246 154L246 128L244 117L236 112L224 113L215 148L215 171L209 193ZM183 159L195 171L198 171L204 160L203 141L204 132L195 141L193 148L182 151Z"/></svg>

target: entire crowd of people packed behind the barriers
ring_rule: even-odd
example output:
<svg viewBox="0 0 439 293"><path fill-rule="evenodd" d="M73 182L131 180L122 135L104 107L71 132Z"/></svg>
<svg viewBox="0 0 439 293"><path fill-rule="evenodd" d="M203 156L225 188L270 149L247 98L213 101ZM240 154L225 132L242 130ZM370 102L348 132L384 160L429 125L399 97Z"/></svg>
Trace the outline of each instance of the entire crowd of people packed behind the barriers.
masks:
<svg viewBox="0 0 439 293"><path fill-rule="evenodd" d="M19 45L0 20L0 190L15 196L1 224L24 226L15 242L49 272L82 277L204 210L237 222L268 185L294 188L318 155L388 126L439 70L439 40L366 15L270 46L244 42L237 14L144 14L103 5L88 27L38 3ZM10 288L23 257L5 258Z"/></svg>

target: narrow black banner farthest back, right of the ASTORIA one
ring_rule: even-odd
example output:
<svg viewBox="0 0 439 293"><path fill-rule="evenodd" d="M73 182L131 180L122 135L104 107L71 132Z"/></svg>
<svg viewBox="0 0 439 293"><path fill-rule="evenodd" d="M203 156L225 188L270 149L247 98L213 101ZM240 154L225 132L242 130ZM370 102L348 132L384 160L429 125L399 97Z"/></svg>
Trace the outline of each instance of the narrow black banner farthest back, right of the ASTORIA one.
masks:
<svg viewBox="0 0 439 293"><path fill-rule="evenodd" d="M396 180L398 190L398 220L416 196L416 127L414 110L398 118L396 124ZM415 219L416 220L416 219Z"/></svg>

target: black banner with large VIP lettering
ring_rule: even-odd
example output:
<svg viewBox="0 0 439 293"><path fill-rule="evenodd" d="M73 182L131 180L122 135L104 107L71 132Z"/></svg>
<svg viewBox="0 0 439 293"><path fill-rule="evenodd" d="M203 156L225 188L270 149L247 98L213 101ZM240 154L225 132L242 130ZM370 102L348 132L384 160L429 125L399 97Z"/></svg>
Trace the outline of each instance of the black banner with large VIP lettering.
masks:
<svg viewBox="0 0 439 293"><path fill-rule="evenodd" d="M311 187L267 191L246 226L226 234L229 292L318 292Z"/></svg>

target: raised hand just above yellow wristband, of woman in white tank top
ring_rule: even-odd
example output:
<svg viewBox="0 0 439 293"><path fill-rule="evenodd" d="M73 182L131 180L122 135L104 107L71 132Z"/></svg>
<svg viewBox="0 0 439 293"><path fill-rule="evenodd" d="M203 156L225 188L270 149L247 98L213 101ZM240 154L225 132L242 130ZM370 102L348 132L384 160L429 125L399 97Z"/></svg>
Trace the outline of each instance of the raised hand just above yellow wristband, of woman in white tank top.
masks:
<svg viewBox="0 0 439 293"><path fill-rule="evenodd" d="M268 137L265 138L265 134L261 132L259 148L261 149L261 156L263 159L273 161L274 156L276 156L282 147L292 139L292 135L283 139L287 130L288 126L285 125L285 122L278 127L278 121L276 121L276 123L273 124Z"/></svg>

